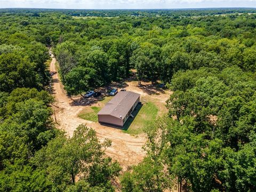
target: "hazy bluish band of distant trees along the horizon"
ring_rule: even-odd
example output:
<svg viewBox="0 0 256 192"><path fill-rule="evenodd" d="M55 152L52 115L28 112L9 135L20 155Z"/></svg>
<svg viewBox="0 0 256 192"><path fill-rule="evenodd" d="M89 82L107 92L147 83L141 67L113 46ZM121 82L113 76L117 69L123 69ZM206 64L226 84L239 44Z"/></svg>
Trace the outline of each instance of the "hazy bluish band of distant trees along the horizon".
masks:
<svg viewBox="0 0 256 192"><path fill-rule="evenodd" d="M256 13L256 8L204 8L204 9L114 9L114 10L75 10L75 9L0 9L0 13L51 13L59 12L79 17L117 17L117 16L147 16L156 15L170 17L191 17L230 13Z"/></svg>

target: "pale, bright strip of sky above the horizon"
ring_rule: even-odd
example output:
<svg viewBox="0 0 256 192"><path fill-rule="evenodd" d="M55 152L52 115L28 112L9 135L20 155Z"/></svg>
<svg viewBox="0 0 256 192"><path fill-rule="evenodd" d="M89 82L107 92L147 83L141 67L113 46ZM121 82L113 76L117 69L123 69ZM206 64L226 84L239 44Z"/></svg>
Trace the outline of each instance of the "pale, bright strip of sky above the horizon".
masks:
<svg viewBox="0 0 256 192"><path fill-rule="evenodd" d="M0 0L0 8L183 9L256 7L256 0Z"/></svg>

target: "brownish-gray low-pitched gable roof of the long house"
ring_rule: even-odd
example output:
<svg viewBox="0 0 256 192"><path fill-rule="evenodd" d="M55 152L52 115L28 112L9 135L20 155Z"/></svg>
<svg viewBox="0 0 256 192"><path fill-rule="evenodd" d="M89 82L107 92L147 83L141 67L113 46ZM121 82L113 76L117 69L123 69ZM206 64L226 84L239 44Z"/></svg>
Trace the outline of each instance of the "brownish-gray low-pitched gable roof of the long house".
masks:
<svg viewBox="0 0 256 192"><path fill-rule="evenodd" d="M108 101L98 115L111 115L122 119L126 116L140 94L131 91L120 91L113 99Z"/></svg>

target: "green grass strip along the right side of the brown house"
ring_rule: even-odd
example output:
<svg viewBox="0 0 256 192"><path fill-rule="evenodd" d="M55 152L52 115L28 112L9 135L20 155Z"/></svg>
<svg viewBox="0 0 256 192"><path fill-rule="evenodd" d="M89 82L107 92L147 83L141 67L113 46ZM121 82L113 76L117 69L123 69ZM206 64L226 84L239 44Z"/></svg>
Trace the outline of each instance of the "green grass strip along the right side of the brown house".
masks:
<svg viewBox="0 0 256 192"><path fill-rule="evenodd" d="M153 102L147 102L143 105L138 105L132 112L134 118L129 117L125 122L123 132L129 134L140 134L142 129L148 123L156 119L158 108Z"/></svg>

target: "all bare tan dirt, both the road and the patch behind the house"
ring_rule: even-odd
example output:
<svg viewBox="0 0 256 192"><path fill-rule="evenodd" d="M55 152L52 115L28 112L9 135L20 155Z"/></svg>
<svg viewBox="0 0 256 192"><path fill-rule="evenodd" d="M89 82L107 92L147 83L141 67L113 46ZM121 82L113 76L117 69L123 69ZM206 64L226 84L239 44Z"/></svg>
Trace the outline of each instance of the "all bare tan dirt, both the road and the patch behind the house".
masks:
<svg viewBox="0 0 256 192"><path fill-rule="evenodd" d="M52 74L52 93L55 97L55 103L53 105L55 116L53 119L57 120L57 128L65 130L71 137L74 130L79 124L86 124L92 127L96 132L98 138L103 141L104 139L110 139L112 146L106 150L106 154L118 161L123 170L131 165L138 164L145 156L145 151L142 150L142 146L146 142L145 135L140 134L133 137L130 134L124 133L122 130L115 129L113 127L103 126L99 123L86 121L79 118L78 114L88 105L98 105L97 100L85 101L80 97L68 98L63 85L60 82L57 69L55 67L55 58L52 58L50 65L50 73ZM169 92L162 92L151 86L150 83L145 83L145 86L138 87L137 82L127 79L127 83L123 85L127 90L131 90L141 94L141 100L154 100L157 99L161 105L164 106L165 100L169 98ZM111 85L117 86L117 85Z"/></svg>

